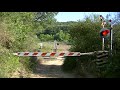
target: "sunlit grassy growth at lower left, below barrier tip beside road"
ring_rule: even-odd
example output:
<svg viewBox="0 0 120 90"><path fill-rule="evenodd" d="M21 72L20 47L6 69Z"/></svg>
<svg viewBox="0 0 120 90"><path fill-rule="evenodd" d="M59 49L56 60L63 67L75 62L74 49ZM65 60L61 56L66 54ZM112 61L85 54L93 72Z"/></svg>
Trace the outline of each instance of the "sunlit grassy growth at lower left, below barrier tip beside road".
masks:
<svg viewBox="0 0 120 90"><path fill-rule="evenodd" d="M36 62L31 62L29 57L14 56L12 52L0 46L0 78L18 77L19 72L27 73L33 71L36 67ZM20 62L23 61L23 62ZM17 73L17 76L14 74ZM24 77L27 77L23 75Z"/></svg>

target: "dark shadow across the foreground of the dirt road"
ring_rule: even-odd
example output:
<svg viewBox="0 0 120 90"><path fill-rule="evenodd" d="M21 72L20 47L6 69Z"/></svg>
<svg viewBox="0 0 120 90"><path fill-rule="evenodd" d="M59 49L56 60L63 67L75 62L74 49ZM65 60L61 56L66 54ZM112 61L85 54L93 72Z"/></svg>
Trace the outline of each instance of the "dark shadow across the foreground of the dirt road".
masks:
<svg viewBox="0 0 120 90"><path fill-rule="evenodd" d="M62 65L46 65L40 63L34 74L39 75L38 78L80 78L77 75L63 72L61 66Z"/></svg>

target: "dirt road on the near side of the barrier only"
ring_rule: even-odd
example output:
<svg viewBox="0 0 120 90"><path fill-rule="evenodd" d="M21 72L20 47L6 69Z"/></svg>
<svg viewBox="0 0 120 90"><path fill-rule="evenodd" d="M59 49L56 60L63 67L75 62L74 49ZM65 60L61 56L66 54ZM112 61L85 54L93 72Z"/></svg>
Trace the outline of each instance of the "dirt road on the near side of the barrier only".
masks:
<svg viewBox="0 0 120 90"><path fill-rule="evenodd" d="M63 60L41 60L34 74L30 78L80 78L80 76L65 73L61 69Z"/></svg>

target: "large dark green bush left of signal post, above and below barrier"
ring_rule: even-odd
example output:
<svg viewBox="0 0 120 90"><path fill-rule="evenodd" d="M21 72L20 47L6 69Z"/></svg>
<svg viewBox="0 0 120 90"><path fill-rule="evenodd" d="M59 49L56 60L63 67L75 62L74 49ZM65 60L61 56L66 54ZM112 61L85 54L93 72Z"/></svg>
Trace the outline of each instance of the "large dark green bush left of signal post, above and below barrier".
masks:
<svg viewBox="0 0 120 90"><path fill-rule="evenodd" d="M70 28L70 39L71 39L71 51L73 52L94 52L102 49L102 39L100 38L99 32L101 30L101 23L97 21L92 21L89 18L86 18L85 21L80 21L77 24L74 24ZM105 42L105 49L107 48L108 42ZM69 61L64 62L65 65L72 62L73 58L70 58ZM77 65L73 65L72 68L79 74L85 74L90 72L93 75L101 75L96 68L94 60L95 56L80 56ZM72 69L71 68L71 69Z"/></svg>

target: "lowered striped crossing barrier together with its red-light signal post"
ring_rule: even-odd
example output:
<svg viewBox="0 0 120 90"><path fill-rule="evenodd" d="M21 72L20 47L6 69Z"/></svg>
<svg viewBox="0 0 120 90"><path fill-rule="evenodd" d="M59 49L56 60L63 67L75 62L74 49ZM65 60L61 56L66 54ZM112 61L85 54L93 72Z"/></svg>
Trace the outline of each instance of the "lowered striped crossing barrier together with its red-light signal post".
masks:
<svg viewBox="0 0 120 90"><path fill-rule="evenodd" d="M112 55L112 28L113 26L111 25L111 20L109 20L110 23L110 29L105 28L106 25L106 21L104 20L104 18L102 17L102 15L100 15L100 20L102 22L102 29L100 30L100 37L102 39L102 51L94 51L94 52L88 52L88 53L80 53L80 52L61 52L58 53L57 51L57 42L54 41L54 52L17 52L17 53L13 53L13 55L16 56L39 56L39 57L65 57L65 56L82 56L82 55L95 55L97 57L96 59L96 64L98 66L102 66L102 64L105 64L107 62L107 58L109 56L109 51L110 51L110 55ZM110 42L110 50L109 51L105 51L105 39L108 39L111 41Z"/></svg>

